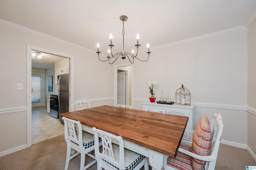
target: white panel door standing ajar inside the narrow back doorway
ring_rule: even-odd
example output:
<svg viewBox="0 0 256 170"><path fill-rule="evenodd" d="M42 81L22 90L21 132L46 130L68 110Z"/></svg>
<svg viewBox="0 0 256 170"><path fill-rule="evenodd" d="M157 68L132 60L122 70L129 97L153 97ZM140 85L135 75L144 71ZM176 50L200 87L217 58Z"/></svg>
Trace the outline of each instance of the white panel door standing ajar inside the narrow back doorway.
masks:
<svg viewBox="0 0 256 170"><path fill-rule="evenodd" d="M117 73L117 104L126 105L126 71Z"/></svg>

